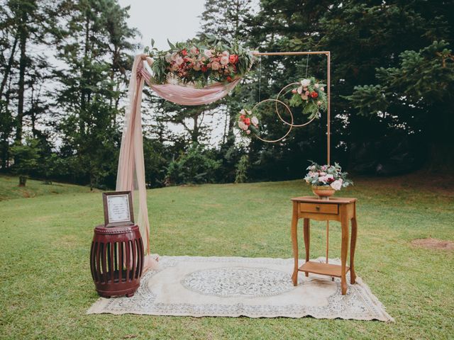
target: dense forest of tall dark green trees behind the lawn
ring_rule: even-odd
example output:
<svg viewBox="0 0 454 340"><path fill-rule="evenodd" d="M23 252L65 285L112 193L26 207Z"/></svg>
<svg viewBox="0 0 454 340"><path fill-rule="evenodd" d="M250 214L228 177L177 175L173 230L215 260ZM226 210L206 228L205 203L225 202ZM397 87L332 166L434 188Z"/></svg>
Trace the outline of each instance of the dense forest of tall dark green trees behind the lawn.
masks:
<svg viewBox="0 0 454 340"><path fill-rule="evenodd" d="M128 8L116 0L0 4L0 170L114 188L139 48ZM331 159L387 176L453 169L453 24L454 1L206 0L200 32L251 50L331 51ZM262 57L209 106L175 106L146 90L148 186L297 179L308 159L325 162L324 117L274 144L241 140L234 129L238 111L258 98L306 72L326 79L324 58ZM272 111L262 114L268 138L284 134Z"/></svg>

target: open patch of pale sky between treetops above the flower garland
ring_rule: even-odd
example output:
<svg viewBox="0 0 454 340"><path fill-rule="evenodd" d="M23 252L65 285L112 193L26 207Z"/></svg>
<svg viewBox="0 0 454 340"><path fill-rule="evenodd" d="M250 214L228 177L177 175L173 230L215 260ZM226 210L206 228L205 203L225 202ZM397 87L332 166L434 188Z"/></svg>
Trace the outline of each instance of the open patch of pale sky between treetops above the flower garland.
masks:
<svg viewBox="0 0 454 340"><path fill-rule="evenodd" d="M199 16L205 0L119 0L119 3L131 6L129 26L143 35L143 46L150 45L153 38L155 47L167 50L167 38L177 42L195 37L200 30Z"/></svg>

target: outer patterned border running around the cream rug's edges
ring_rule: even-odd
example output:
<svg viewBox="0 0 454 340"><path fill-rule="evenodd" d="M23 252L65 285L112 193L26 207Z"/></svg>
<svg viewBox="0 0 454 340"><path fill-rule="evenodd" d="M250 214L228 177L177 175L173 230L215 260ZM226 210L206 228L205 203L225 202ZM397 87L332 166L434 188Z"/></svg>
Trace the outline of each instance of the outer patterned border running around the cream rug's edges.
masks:
<svg viewBox="0 0 454 340"><path fill-rule="evenodd" d="M255 263L255 264L276 264L276 265L284 265L288 264L288 262L293 263L293 259L279 259L279 258L263 258L263 257L243 257L243 256L160 256L160 263L161 264L167 264L165 268L169 268L172 266L172 262L181 262L181 261L197 261L197 262L225 262L225 263L231 263L233 261L240 261L241 263ZM319 261L319 262L324 262L325 258L324 257L319 257L318 259L314 259L311 261ZM340 259L330 259L330 263L340 263ZM135 298L140 298L145 296L146 294L143 294L143 291L145 293L151 293L148 291L148 287L146 287L146 283L148 283L148 280L152 277L155 276L157 273L160 273L161 271L165 270L165 268L159 268L156 271L148 271L147 273L144 274L141 283L140 283L140 288L135 294ZM339 279L336 279L339 280ZM382 322L394 322L394 318L391 317L385 310L384 305L380 300L378 300L377 297L372 293L370 290L369 286L362 281L361 278L357 277L356 278L356 284L355 288L358 290L361 290L361 293L365 295L365 297L370 300L372 303L375 312L377 312L377 315L375 317L367 318L367 317L360 317L356 315L355 317L344 317L342 315L322 315L319 313L316 313L314 311L307 311L304 314L299 314L297 316L295 315L282 315L282 311L276 311L277 314L270 314L270 315L255 315L255 314L245 314L244 312L238 312L234 313L232 311L229 312L229 314L222 315L219 312L214 312L214 313L209 313L209 312L203 312L200 311L201 314L196 314L194 311L183 311L183 312L175 312L175 310L170 311L170 312L165 312L164 310L160 310L159 312L153 312L153 311L146 311L144 312L143 309L139 308L128 308L128 311L118 311L114 309L106 309L109 305L114 304L115 302L118 302L119 299L128 299L130 301L131 299L134 299L134 297L112 297L110 299L106 299L104 297L99 297L99 299L94 302L94 304L87 310L87 314L141 314L141 315L153 315L153 316L175 316L175 317L250 317L250 318L274 318L274 317L288 317L291 319L299 319L301 317L314 317L315 319L356 319L356 320L362 320L362 321L372 321L372 320L378 320ZM349 285L349 292L350 293L350 287L353 287ZM340 291L340 285L338 284L338 290L336 291L336 296L342 296L341 291ZM140 296L140 297L139 297ZM245 297L245 299L248 299L248 297ZM242 305L242 304L238 304ZM240 306L236 307L240 307ZM233 306L233 305L232 305ZM192 307L192 306L189 306ZM287 307L287 306L286 306Z"/></svg>

